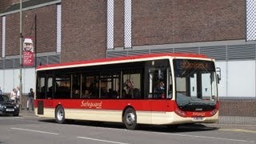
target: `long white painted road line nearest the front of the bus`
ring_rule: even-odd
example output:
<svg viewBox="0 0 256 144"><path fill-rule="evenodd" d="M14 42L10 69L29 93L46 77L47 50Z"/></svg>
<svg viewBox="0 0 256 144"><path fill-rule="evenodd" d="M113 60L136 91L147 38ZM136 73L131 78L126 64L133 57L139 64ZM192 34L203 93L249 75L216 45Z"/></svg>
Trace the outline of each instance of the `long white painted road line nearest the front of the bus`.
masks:
<svg viewBox="0 0 256 144"><path fill-rule="evenodd" d="M156 132L154 132L156 133ZM234 142L252 142L254 141L246 141L241 139L230 139L230 138L218 138L218 137L206 137L206 136L198 136L198 135L188 135L188 134L167 134L167 133L156 133L156 134L166 134L166 135L174 135L179 137L191 137L191 138L206 138L206 139L218 139L218 140L224 140L224 141L234 141Z"/></svg>

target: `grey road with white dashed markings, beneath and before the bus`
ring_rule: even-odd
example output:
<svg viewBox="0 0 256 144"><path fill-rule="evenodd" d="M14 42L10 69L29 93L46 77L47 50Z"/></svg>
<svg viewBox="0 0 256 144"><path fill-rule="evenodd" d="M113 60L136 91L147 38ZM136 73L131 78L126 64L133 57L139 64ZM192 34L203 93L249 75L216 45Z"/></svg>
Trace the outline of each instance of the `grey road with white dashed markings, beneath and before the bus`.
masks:
<svg viewBox="0 0 256 144"><path fill-rule="evenodd" d="M185 125L177 130L165 126L141 126L126 130L120 123L74 121L57 124L53 120L21 114L21 117L0 116L0 143L256 143L253 125Z"/></svg>

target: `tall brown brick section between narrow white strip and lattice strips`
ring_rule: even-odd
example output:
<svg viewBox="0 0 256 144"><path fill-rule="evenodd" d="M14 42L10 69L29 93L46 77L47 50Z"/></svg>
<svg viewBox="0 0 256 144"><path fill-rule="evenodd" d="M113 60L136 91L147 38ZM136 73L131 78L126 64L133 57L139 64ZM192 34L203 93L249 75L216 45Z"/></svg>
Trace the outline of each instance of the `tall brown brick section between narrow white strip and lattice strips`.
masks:
<svg viewBox="0 0 256 144"><path fill-rule="evenodd" d="M106 58L106 0L62 0L62 62Z"/></svg>

